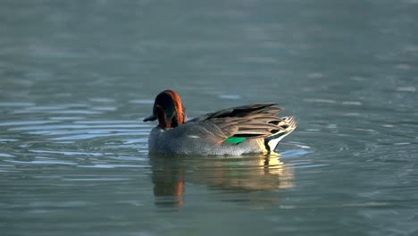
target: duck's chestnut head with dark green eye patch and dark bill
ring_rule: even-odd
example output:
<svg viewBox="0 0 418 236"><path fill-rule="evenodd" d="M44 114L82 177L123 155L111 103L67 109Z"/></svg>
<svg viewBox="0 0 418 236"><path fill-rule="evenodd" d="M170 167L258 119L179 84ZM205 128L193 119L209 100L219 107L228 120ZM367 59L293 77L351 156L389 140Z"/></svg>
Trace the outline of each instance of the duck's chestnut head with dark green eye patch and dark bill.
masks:
<svg viewBox="0 0 418 236"><path fill-rule="evenodd" d="M173 90L164 90L155 97L153 114L146 117L144 122L157 119L161 129L175 128L186 122L186 113L180 96Z"/></svg>

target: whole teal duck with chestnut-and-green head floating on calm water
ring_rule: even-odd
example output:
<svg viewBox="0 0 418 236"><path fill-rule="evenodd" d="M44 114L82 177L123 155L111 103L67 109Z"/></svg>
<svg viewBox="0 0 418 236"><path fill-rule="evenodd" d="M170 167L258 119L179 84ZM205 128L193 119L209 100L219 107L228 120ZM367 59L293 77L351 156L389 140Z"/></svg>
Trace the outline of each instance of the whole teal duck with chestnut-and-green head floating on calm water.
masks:
<svg viewBox="0 0 418 236"><path fill-rule="evenodd" d="M158 121L149 133L148 152L162 155L241 156L275 154L281 139L297 128L294 116L277 117L276 103L254 103L222 109L187 121L179 94L163 90L155 97Z"/></svg>

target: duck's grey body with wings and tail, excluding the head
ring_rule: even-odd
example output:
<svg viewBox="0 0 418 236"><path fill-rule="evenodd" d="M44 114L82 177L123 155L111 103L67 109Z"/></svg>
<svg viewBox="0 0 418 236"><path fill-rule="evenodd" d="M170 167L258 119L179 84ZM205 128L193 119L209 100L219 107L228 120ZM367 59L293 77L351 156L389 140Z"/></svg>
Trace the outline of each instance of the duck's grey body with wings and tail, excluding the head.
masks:
<svg viewBox="0 0 418 236"><path fill-rule="evenodd" d="M296 128L292 117L274 116L274 104L232 107L182 125L151 131L150 152L175 155L242 155L273 151Z"/></svg>

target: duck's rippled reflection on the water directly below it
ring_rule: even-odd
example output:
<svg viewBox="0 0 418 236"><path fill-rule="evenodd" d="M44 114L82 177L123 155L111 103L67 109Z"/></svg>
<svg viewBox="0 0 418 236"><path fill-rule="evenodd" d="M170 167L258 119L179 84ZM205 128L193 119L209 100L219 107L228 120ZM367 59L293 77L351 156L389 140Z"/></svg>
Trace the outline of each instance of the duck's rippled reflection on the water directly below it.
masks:
<svg viewBox="0 0 418 236"><path fill-rule="evenodd" d="M186 181L218 190L270 191L293 187L293 169L281 163L280 156L149 157L155 201L159 205L182 205Z"/></svg>

